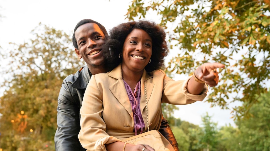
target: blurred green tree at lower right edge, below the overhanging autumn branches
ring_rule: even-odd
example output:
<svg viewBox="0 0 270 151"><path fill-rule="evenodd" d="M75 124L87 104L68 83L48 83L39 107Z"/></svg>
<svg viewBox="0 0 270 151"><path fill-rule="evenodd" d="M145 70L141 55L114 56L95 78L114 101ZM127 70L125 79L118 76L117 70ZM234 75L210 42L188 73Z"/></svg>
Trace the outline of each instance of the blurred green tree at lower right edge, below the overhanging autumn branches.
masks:
<svg viewBox="0 0 270 151"><path fill-rule="evenodd" d="M252 117L237 121L239 151L270 150L270 92L262 94L259 102L250 108Z"/></svg>

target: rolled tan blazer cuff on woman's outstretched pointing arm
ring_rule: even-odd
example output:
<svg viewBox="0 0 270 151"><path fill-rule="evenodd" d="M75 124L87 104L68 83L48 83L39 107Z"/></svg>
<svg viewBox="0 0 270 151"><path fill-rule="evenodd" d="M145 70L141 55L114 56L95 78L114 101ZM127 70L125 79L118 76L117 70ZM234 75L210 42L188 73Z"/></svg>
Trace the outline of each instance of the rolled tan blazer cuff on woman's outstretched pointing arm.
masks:
<svg viewBox="0 0 270 151"><path fill-rule="evenodd" d="M206 97L207 95L207 84L204 85L204 89L203 91L199 94L199 95L195 95L195 94L190 94L188 92L187 86L188 86L188 81L190 80L192 76L190 76L187 80L184 81L183 83L183 91L186 97L190 98L191 100L196 100L196 101L203 101L203 99Z"/></svg>

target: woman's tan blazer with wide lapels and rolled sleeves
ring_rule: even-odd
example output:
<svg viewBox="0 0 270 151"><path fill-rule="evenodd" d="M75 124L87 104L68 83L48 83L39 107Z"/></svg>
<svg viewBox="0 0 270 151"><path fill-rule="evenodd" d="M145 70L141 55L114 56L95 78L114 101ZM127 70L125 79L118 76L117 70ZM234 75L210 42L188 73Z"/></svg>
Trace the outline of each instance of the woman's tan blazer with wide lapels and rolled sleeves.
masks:
<svg viewBox="0 0 270 151"><path fill-rule="evenodd" d="M200 95L187 92L187 81L174 81L162 70L147 73L141 78L140 109L147 131L146 92L150 130L158 130L161 124L161 103L175 105L202 101L206 97L207 86ZM80 109L81 130L79 140L88 150L106 150L104 144L134 136L134 120L129 98L122 79L121 64L108 73L91 77ZM110 137L111 136L111 137Z"/></svg>

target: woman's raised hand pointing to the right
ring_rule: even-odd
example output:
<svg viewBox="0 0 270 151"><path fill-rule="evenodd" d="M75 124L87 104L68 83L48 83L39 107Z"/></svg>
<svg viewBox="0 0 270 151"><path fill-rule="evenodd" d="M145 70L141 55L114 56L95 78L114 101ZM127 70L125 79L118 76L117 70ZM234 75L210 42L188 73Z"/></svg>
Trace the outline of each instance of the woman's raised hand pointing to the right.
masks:
<svg viewBox="0 0 270 151"><path fill-rule="evenodd" d="M218 84L219 76L216 68L224 68L224 64L220 63L205 63L198 67L194 74L195 78L199 81L205 82L210 87L216 86Z"/></svg>

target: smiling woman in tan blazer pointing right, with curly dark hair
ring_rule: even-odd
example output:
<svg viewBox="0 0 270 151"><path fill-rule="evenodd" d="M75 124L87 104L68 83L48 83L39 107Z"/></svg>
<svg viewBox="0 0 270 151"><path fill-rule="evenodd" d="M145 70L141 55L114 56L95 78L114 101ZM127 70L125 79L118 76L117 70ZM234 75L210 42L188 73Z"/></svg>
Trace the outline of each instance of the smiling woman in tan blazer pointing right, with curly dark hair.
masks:
<svg viewBox="0 0 270 151"><path fill-rule="evenodd" d="M124 144L121 140L150 130L161 123L161 103L175 105L202 101L207 86L218 83L216 68L207 63L186 81L174 81L161 70L168 53L166 33L154 22L122 23L110 31L107 41L111 72L93 75L83 98L79 140L88 150L153 151L148 145ZM206 84L205 84L206 83ZM148 122L146 115L146 94ZM148 124L147 124L148 123Z"/></svg>

